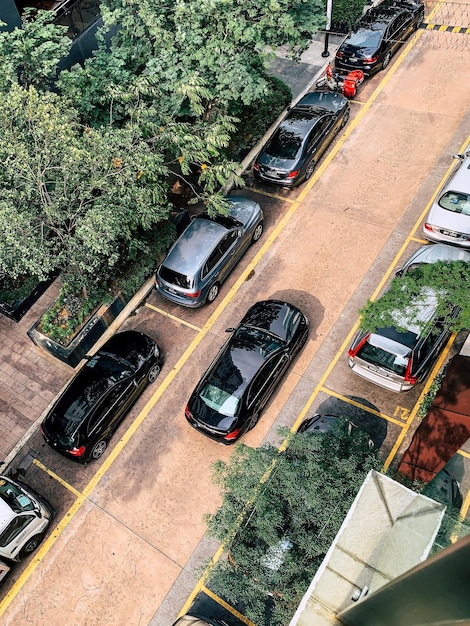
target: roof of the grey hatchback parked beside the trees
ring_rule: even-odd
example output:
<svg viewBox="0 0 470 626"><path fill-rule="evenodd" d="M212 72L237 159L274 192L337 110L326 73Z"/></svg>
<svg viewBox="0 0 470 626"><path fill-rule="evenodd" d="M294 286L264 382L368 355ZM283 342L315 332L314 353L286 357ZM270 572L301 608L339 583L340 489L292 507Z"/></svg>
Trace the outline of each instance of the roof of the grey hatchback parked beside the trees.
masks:
<svg viewBox="0 0 470 626"><path fill-rule="evenodd" d="M173 244L162 265L193 276L227 232L225 226L211 219L194 218Z"/></svg>

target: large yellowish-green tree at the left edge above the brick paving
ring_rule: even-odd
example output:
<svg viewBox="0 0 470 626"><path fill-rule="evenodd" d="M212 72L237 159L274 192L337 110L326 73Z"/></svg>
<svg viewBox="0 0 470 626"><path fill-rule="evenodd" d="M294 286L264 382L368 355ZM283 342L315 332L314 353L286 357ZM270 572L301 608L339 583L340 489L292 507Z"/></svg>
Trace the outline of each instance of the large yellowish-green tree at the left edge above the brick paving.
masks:
<svg viewBox="0 0 470 626"><path fill-rule="evenodd" d="M59 96L13 85L0 94L0 272L70 290L106 287L169 213L167 168L132 125L81 126ZM150 259L149 259L150 261Z"/></svg>

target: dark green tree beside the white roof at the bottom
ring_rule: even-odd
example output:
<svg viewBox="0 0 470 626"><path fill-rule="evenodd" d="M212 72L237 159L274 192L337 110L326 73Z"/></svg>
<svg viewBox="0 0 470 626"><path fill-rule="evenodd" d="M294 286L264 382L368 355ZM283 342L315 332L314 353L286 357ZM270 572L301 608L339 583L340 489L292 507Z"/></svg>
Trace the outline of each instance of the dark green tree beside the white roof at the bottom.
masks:
<svg viewBox="0 0 470 626"><path fill-rule="evenodd" d="M208 586L241 602L258 626L289 623L367 472L379 467L367 435L349 435L343 421L335 432L292 435L281 454L237 445L214 466L222 505L207 516L208 532L230 550Z"/></svg>

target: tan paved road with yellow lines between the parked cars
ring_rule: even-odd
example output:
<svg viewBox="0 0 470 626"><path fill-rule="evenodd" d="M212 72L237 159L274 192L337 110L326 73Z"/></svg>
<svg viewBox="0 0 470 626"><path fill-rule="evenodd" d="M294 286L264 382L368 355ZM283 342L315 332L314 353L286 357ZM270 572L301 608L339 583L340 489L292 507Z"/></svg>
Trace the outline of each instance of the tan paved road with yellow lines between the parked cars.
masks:
<svg viewBox="0 0 470 626"><path fill-rule="evenodd" d="M169 626L190 605L197 567L217 548L202 519L219 503L211 466L232 449L191 429L184 407L225 329L257 300L298 305L311 334L245 443L277 442L279 425L339 406L380 442L386 466L400 458L427 383L402 395L375 388L349 371L346 351L358 309L422 244L426 206L451 155L470 139L470 54L458 40L467 35L446 35L452 47L440 33L420 31L387 73L363 85L351 121L308 184L287 191L249 179L240 193L262 204L265 233L214 305L183 310L153 291L127 320L124 328L158 340L166 361L101 463L74 465L35 435L28 481L59 515L3 587L2 623ZM442 362L463 339L449 344ZM470 447L460 458L468 513Z"/></svg>

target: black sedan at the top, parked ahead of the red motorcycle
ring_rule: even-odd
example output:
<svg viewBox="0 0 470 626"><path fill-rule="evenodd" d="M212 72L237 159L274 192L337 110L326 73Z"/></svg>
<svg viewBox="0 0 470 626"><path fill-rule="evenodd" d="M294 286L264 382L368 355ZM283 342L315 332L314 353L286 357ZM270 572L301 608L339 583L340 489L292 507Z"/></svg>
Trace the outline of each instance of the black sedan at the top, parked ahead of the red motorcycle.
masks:
<svg viewBox="0 0 470 626"><path fill-rule="evenodd" d="M385 69L423 19L420 0L383 0L359 19L340 45L335 68L342 73L362 70L367 75Z"/></svg>

